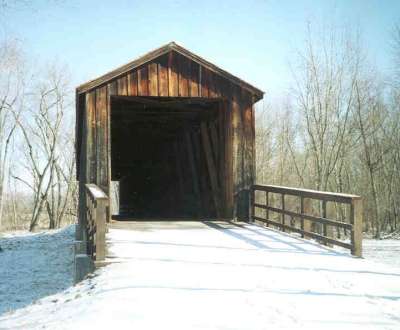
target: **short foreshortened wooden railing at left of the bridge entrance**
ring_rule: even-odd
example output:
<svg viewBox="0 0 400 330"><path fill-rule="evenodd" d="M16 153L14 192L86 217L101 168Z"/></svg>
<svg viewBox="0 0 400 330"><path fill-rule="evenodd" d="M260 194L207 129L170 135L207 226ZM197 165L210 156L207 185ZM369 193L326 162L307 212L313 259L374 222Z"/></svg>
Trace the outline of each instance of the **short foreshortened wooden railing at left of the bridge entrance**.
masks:
<svg viewBox="0 0 400 330"><path fill-rule="evenodd" d="M107 195L95 184L86 184L86 234L88 255L103 261L106 255Z"/></svg>

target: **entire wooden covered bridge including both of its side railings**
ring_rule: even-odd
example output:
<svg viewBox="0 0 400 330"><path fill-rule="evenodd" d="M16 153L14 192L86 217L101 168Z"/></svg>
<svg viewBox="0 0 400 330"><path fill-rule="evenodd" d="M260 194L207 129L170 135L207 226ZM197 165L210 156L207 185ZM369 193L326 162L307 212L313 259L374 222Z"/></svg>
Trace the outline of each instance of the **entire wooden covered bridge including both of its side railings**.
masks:
<svg viewBox="0 0 400 330"><path fill-rule="evenodd" d="M88 254L104 260L116 221L179 219L260 221L360 256L358 196L255 184L253 105L262 97L173 42L79 86L78 237ZM330 211L338 204L348 205L340 219Z"/></svg>

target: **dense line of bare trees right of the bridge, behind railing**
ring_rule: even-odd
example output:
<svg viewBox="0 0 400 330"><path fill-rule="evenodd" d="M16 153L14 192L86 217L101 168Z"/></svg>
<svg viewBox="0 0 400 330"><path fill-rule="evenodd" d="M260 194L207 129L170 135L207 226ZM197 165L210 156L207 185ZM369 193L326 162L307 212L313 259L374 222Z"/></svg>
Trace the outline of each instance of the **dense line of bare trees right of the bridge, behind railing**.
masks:
<svg viewBox="0 0 400 330"><path fill-rule="evenodd" d="M400 28L389 76L351 31L307 36L286 98L257 110L257 181L361 195L366 232L399 231Z"/></svg>

